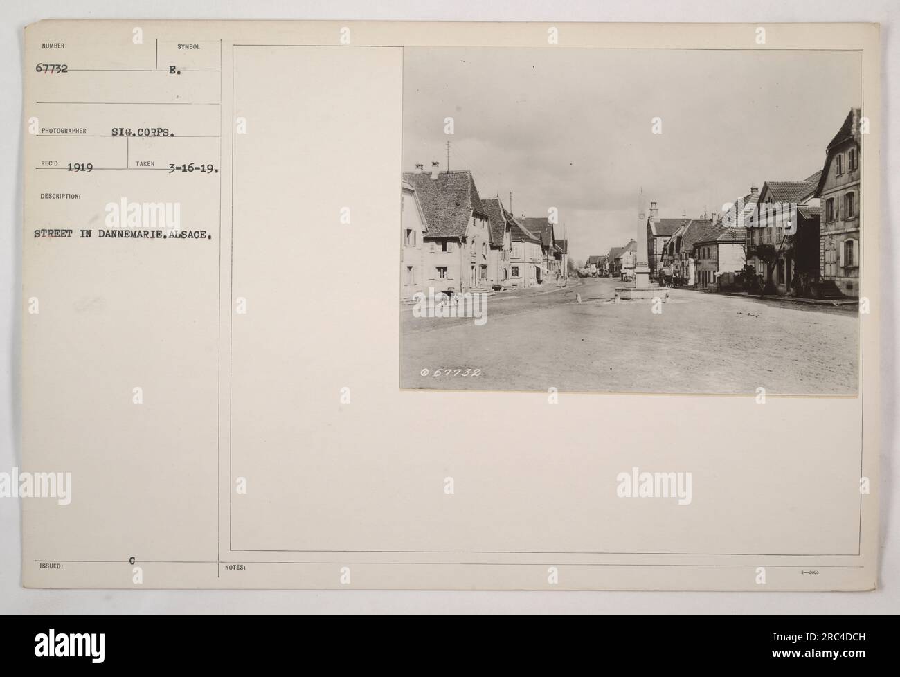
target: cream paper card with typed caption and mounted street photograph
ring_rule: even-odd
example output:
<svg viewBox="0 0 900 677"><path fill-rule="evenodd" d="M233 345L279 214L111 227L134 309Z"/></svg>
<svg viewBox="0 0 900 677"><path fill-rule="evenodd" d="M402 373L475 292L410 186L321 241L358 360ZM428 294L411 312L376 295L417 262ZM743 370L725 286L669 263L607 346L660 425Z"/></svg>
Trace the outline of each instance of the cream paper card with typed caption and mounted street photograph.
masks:
<svg viewBox="0 0 900 677"><path fill-rule="evenodd" d="M29 26L23 584L872 589L878 63L869 24Z"/></svg>

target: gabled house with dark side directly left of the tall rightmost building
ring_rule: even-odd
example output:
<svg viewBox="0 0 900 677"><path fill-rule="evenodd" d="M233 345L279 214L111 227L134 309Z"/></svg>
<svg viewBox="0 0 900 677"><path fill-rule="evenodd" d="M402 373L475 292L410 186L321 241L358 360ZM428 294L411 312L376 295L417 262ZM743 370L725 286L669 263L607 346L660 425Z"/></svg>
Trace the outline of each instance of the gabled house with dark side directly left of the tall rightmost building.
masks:
<svg viewBox="0 0 900 677"><path fill-rule="evenodd" d="M821 172L802 181L767 181L744 220L747 265L769 293L809 295L819 278Z"/></svg>

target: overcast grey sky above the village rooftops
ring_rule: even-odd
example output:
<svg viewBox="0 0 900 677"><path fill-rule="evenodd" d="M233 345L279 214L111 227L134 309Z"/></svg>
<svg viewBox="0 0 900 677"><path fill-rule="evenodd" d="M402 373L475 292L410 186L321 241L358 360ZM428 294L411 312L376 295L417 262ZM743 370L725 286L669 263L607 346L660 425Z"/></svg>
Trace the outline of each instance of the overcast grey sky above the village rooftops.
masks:
<svg viewBox="0 0 900 677"><path fill-rule="evenodd" d="M403 169L446 169L449 139L450 168L471 169L482 197L509 207L511 191L516 216L557 207L579 260L635 237L642 187L675 218L806 178L861 101L854 51L404 52Z"/></svg>

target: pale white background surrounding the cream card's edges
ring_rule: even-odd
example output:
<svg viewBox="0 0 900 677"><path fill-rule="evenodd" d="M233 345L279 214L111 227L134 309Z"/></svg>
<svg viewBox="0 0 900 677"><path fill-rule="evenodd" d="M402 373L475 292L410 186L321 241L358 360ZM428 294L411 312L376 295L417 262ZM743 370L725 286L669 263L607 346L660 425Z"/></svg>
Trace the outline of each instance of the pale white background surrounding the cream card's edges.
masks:
<svg viewBox="0 0 900 677"><path fill-rule="evenodd" d="M545 0L488 2L393 0L356 2L153 3L41 0L10 3L0 19L0 115L7 141L0 161L0 472L19 465L22 250L23 27L40 19L347 19L435 21L597 22L877 22L882 24L882 369L881 580L858 593L710 592L381 592L381 591L35 591L20 584L18 501L0 499L0 612L4 613L896 613L900 610L900 548L892 534L900 519L896 439L896 264L900 229L892 206L897 188L897 133L892 124L900 92L900 47L893 35L900 5L864 6L829 0L684 2L635 0L547 4ZM892 265L893 264L893 265ZM875 301L878 302L878 301Z"/></svg>

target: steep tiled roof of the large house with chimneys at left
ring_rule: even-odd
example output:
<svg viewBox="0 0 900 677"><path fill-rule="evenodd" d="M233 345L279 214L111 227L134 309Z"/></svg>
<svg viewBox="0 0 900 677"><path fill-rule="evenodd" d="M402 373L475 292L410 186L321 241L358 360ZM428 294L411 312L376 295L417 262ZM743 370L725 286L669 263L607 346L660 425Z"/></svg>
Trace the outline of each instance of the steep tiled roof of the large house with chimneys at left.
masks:
<svg viewBox="0 0 900 677"><path fill-rule="evenodd" d="M433 238L463 238L473 212L487 216L468 169L440 172L403 172L403 180L416 189Z"/></svg>

